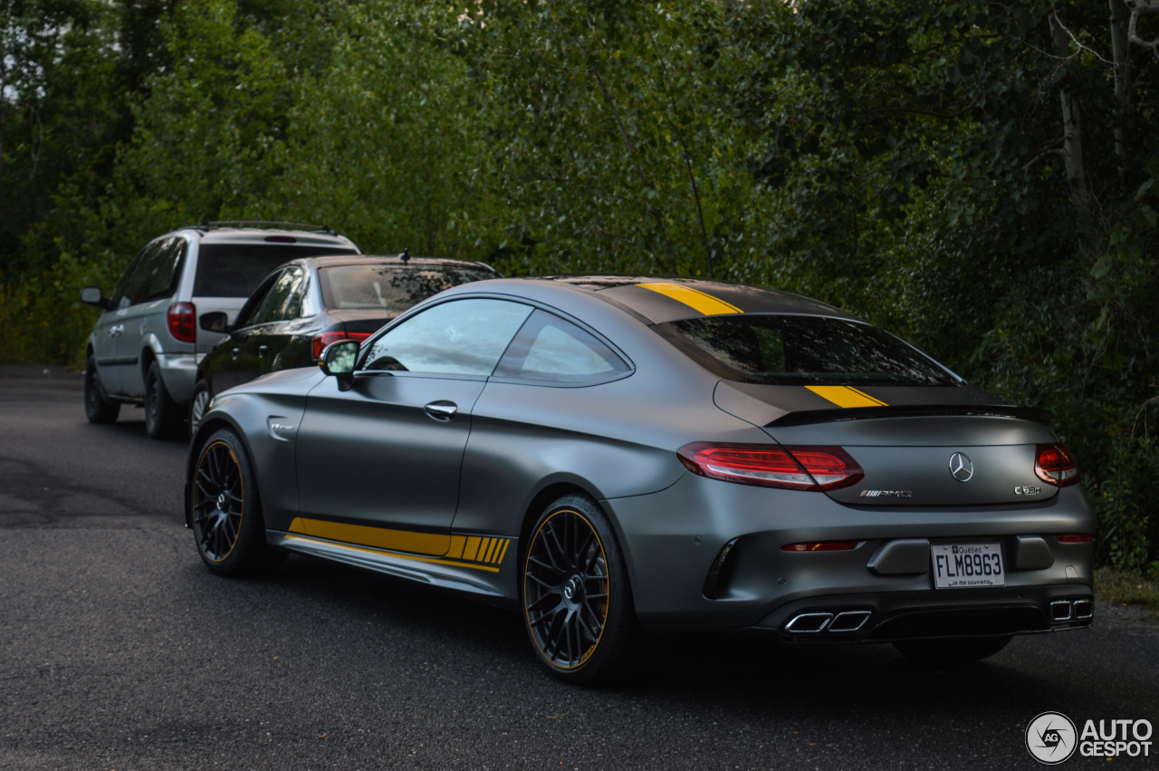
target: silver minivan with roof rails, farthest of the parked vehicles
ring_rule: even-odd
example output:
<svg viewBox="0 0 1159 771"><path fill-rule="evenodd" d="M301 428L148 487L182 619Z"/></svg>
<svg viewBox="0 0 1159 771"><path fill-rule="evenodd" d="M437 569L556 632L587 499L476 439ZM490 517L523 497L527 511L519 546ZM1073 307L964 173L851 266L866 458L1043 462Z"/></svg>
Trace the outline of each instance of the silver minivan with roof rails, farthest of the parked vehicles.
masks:
<svg viewBox="0 0 1159 771"><path fill-rule="evenodd" d="M144 405L152 438L183 427L197 364L224 335L199 314L233 321L274 268L297 257L360 254L327 227L292 223L204 223L169 231L133 257L112 293L86 286L80 299L104 313L85 351L85 414L117 420L122 403Z"/></svg>

